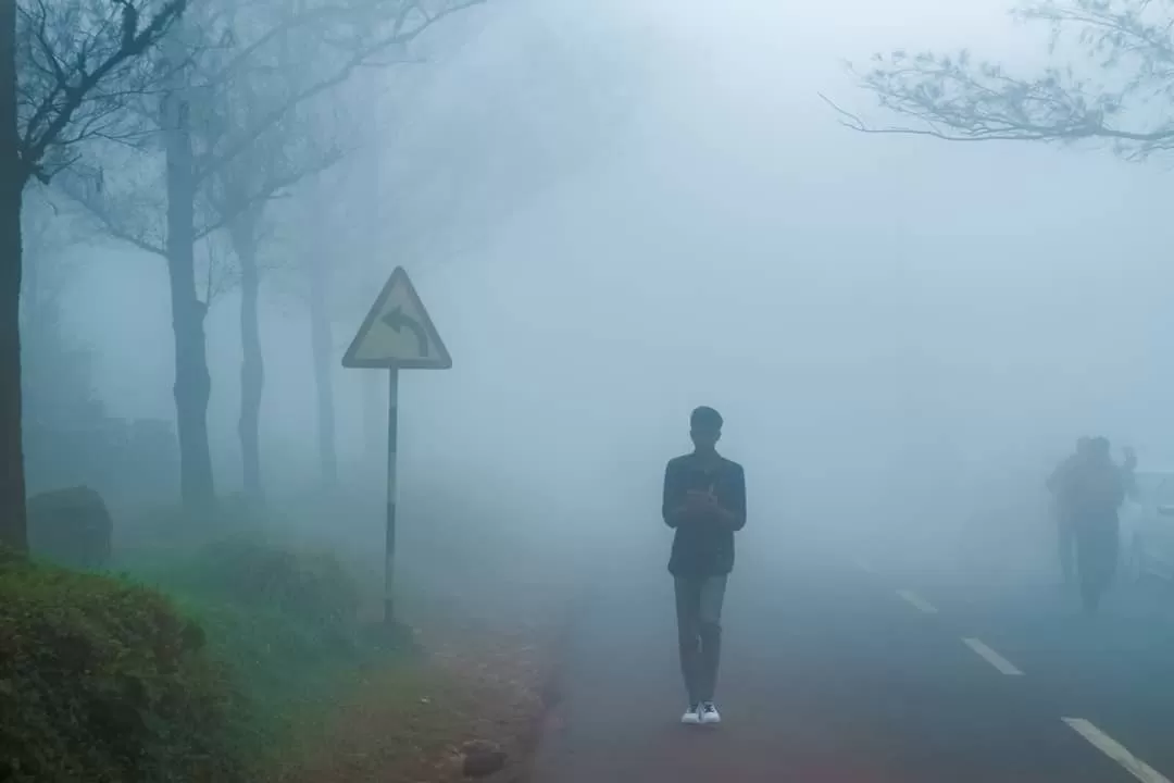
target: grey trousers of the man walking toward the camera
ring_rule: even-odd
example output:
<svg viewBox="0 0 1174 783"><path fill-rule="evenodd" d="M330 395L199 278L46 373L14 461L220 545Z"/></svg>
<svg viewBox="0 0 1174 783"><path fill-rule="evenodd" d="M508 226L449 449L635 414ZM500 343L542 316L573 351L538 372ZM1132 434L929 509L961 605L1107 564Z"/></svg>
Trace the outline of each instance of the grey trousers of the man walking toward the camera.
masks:
<svg viewBox="0 0 1174 783"><path fill-rule="evenodd" d="M676 578L676 628L681 674L689 703L713 701L722 652L726 576Z"/></svg>

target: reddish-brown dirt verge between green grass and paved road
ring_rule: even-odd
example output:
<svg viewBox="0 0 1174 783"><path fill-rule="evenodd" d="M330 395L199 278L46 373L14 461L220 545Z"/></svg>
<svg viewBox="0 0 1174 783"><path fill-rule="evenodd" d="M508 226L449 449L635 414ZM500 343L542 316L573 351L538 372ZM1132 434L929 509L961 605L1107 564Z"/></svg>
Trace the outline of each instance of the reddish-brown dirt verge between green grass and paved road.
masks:
<svg viewBox="0 0 1174 783"><path fill-rule="evenodd" d="M505 752L483 779L526 779L551 701L553 663L567 602L555 593L510 601L504 613L461 614L421 602L412 613L419 660L366 673L324 710L274 783L448 783L463 775L470 743Z"/></svg>

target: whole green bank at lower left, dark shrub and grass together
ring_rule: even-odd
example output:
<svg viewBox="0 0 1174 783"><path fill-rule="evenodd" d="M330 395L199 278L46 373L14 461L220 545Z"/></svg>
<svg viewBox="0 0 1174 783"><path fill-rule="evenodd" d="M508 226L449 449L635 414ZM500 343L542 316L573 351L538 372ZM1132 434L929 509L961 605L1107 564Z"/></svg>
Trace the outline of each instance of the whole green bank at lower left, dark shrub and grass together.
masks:
<svg viewBox="0 0 1174 783"><path fill-rule="evenodd" d="M396 662L326 554L234 535L119 567L0 553L0 779L259 781Z"/></svg>

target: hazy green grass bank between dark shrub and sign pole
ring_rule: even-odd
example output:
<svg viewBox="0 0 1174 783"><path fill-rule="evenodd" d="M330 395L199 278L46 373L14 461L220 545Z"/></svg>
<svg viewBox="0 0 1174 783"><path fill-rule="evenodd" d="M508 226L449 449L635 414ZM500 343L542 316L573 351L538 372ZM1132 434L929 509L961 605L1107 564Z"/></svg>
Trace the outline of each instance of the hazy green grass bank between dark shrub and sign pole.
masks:
<svg viewBox="0 0 1174 783"><path fill-rule="evenodd" d="M263 768L387 654L363 639L358 592L337 561L242 535L128 578L170 596L205 632L241 694L232 734Z"/></svg>

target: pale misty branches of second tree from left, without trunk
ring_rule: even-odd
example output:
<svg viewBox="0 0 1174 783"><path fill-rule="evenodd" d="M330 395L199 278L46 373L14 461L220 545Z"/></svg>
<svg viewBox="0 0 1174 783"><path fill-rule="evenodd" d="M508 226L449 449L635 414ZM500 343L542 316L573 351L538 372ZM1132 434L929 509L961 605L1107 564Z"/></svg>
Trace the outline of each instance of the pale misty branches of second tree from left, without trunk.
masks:
<svg viewBox="0 0 1174 783"><path fill-rule="evenodd" d="M285 0L222 0L194 6L184 18L183 45L178 47L187 52L187 60L182 65L170 61L176 54L169 50L167 56L155 58L155 73L185 69L184 97L194 119L195 182L200 190L197 208L202 210L196 239L209 237L243 211L279 197L302 178L342 158L345 146L340 144L330 149L286 148L294 142L285 136L294 129L283 126L295 121L299 107L321 100L375 55L406 56L407 45L439 21L481 2L485 0L305 0L301 5ZM339 48L328 39L335 39ZM279 62L278 49L302 61ZM54 66L45 68L52 70ZM252 82L256 85L249 86ZM154 95L166 95L166 83L156 79ZM122 122L112 130L102 127L101 114L93 112L95 124L83 128L82 137L104 139L127 148L156 137L163 120L156 108L134 101L137 89L139 82L131 80L124 88L128 100L110 101L112 106L141 106L134 123ZM306 133L309 127L295 133L302 137L297 143L304 146ZM76 156L67 162L73 166ZM119 178L123 178L135 167L128 163L107 167L107 171L117 170ZM160 200L146 196L147 191L160 193L158 184L155 180L135 182L134 174L130 178L122 198L100 187L101 170L95 176L93 170L79 169L76 176L67 177L63 190L112 236L158 252L164 247L164 209ZM229 193L225 178L241 180L232 185L235 193Z"/></svg>

